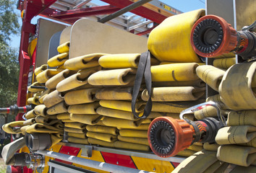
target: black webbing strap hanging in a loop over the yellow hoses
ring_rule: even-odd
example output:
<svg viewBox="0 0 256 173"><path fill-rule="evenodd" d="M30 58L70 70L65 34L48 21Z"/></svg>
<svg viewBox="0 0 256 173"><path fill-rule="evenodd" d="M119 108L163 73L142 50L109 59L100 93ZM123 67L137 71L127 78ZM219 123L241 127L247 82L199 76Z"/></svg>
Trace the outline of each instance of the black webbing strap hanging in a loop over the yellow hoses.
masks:
<svg viewBox="0 0 256 173"><path fill-rule="evenodd" d="M145 77L146 89L148 89L148 102L145 105L143 115L139 117L138 113L135 111L135 105L137 97L140 93L140 86L142 83L143 76ZM137 73L135 77L135 85L133 86L132 91L132 113L135 117L146 118L151 112L152 100L151 100L151 71L150 71L150 51L148 50L145 53L140 55L140 61L137 68Z"/></svg>

